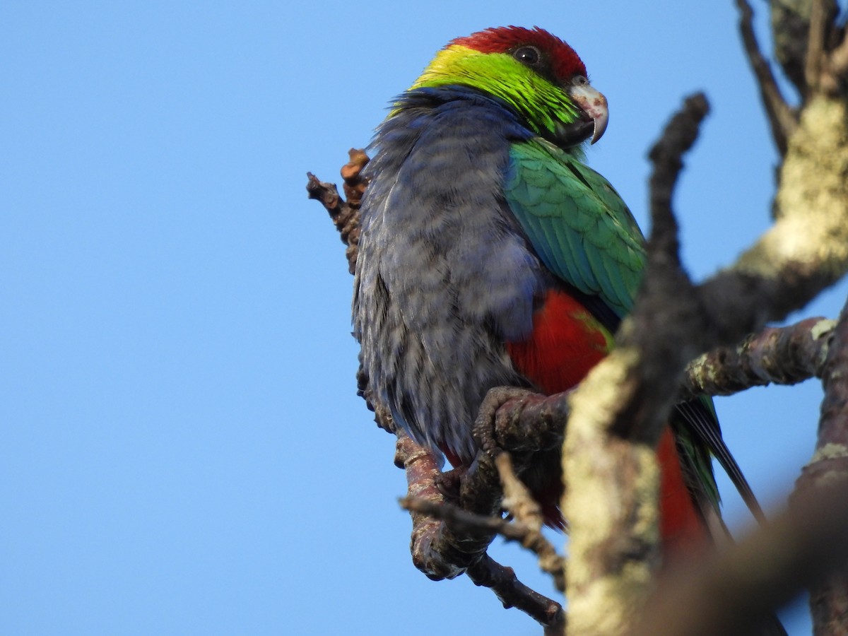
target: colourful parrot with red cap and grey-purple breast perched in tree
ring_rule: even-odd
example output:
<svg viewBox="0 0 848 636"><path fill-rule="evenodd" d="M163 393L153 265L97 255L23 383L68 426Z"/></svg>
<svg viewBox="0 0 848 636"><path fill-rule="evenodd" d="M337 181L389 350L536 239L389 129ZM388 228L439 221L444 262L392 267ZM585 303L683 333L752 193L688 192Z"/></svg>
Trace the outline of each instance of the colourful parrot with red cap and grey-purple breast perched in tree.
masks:
<svg viewBox="0 0 848 636"><path fill-rule="evenodd" d="M489 389L566 392L609 354L644 237L585 163L607 100L548 31L458 37L389 109L363 172L354 337L374 399L416 442L469 466ZM554 526L559 453L525 476ZM756 505L711 399L678 404L656 453L664 555L722 525L712 457Z"/></svg>

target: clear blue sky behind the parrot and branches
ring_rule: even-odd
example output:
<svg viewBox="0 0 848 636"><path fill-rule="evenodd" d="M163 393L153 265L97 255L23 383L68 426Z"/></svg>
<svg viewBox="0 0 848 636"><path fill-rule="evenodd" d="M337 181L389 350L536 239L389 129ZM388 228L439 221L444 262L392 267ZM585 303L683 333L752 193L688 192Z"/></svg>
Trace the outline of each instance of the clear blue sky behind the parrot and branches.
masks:
<svg viewBox="0 0 848 636"><path fill-rule="evenodd" d="M355 395L343 246L304 190L451 37L571 42L610 101L589 161L639 220L650 142L705 90L676 198L690 271L767 226L775 154L731 2L289 4L0 8L0 633L538 633L411 565L393 440ZM820 398L718 401L768 507Z"/></svg>

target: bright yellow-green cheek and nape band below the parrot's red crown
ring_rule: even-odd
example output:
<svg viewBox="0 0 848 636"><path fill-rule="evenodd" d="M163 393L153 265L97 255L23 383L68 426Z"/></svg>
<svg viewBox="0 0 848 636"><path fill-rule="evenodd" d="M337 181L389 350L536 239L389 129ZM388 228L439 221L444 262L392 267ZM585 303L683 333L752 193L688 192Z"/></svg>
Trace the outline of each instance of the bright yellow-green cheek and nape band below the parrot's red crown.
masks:
<svg viewBox="0 0 848 636"><path fill-rule="evenodd" d="M436 54L410 90L456 84L477 88L510 104L537 135L555 135L558 126L577 120L577 107L561 86L508 53L480 53L453 44Z"/></svg>

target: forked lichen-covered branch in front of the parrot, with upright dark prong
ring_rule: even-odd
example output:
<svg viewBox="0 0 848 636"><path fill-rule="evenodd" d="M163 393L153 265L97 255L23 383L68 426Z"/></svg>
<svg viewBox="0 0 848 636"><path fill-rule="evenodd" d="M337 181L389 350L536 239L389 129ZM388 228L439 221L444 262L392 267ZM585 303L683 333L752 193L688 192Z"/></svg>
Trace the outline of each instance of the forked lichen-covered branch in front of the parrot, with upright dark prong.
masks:
<svg viewBox="0 0 848 636"><path fill-rule="evenodd" d="M683 365L783 319L848 269L845 104L817 96L789 138L773 228L728 271L699 286L689 282L679 268L670 202L680 156L705 112L700 98L687 100L651 153L654 228L644 287L619 347L571 400L562 456L566 484L573 484L563 507L572 527L567 580L575 633L624 633L650 591L657 471L649 451ZM834 171L821 175L823 166Z"/></svg>

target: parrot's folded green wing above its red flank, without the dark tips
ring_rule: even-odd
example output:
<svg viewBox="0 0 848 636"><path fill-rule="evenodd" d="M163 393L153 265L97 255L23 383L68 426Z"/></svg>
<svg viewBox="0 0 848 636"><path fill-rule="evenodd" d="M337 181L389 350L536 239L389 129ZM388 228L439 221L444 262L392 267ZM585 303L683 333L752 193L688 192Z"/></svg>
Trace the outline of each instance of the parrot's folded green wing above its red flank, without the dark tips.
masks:
<svg viewBox="0 0 848 636"><path fill-rule="evenodd" d="M644 270L644 237L609 181L541 139L515 143L507 203L544 265L616 315L633 307Z"/></svg>

